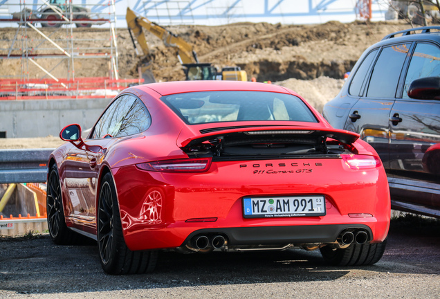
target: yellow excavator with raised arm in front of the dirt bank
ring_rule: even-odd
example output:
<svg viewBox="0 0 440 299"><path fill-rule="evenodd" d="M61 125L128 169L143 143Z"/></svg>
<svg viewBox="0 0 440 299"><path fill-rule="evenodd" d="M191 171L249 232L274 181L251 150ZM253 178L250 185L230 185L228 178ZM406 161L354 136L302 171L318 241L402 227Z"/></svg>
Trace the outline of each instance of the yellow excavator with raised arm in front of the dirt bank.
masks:
<svg viewBox="0 0 440 299"><path fill-rule="evenodd" d="M241 71L239 66L224 67L220 73L212 64L200 63L196 52L190 44L171 31L149 21L146 17L136 15L130 8L127 8L125 19L127 20L131 42L133 42L136 54L139 55L134 41L135 38L143 51L143 63L140 66L140 73L145 80L144 83L156 82L156 80L152 73L152 57L149 53L143 28L161 39L165 46L176 48L178 60L184 67L186 80L248 80L246 71Z"/></svg>

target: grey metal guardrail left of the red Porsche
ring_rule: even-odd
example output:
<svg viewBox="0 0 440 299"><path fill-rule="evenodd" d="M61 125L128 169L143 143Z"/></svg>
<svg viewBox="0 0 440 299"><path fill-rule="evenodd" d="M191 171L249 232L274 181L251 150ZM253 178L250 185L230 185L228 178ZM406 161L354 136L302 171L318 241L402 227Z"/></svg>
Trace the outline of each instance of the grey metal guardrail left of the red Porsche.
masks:
<svg viewBox="0 0 440 299"><path fill-rule="evenodd" d="M46 183L54 149L0 149L0 183Z"/></svg>

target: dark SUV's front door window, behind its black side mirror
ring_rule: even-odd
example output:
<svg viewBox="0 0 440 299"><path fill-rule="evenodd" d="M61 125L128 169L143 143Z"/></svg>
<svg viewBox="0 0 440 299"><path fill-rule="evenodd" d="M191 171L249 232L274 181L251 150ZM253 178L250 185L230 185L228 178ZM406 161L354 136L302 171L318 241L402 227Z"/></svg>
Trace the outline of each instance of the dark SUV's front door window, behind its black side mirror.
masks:
<svg viewBox="0 0 440 299"><path fill-rule="evenodd" d="M402 98L410 98L407 92L413 80L436 76L440 76L439 47L433 44L417 44L408 67Z"/></svg>

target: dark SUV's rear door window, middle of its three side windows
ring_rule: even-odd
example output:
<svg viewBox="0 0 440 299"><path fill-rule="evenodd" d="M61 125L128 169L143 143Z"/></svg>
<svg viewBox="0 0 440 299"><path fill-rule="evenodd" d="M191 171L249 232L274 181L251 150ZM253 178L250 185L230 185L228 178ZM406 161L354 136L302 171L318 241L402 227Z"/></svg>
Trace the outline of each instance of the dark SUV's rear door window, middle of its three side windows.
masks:
<svg viewBox="0 0 440 299"><path fill-rule="evenodd" d="M400 44L383 48L369 81L369 98L394 98L398 78L411 44Z"/></svg>

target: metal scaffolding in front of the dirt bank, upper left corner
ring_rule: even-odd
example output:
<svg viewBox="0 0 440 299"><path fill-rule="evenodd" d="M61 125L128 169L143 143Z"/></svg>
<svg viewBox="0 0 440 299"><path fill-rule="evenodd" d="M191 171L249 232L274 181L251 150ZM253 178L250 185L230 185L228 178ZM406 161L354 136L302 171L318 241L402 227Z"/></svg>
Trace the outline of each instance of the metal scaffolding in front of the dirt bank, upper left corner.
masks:
<svg viewBox="0 0 440 299"><path fill-rule="evenodd" d="M103 59L107 60L108 79L118 84L116 21L115 0L2 1L0 22L11 28L5 28L1 40L1 67L15 71L9 77L0 73L0 81L15 79L25 89L35 87L23 86L26 81L51 81L72 90L65 82L75 85L75 67L86 66L86 60ZM109 24L107 37L94 36L93 29L87 29L91 31L88 39L77 37L84 27L102 24Z"/></svg>

